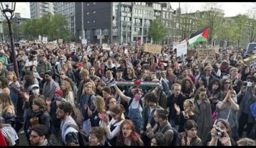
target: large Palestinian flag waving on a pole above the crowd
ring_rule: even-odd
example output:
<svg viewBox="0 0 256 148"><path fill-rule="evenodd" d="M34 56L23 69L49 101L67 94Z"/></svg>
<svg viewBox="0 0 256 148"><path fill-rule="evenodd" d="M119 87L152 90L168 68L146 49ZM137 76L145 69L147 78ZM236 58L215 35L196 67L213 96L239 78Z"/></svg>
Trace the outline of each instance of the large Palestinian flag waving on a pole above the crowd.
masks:
<svg viewBox="0 0 256 148"><path fill-rule="evenodd" d="M195 46L196 42L207 42L207 39L209 37L209 27L205 27L202 30L199 30L195 32L195 34L191 34L189 40L189 46L193 47ZM185 40L183 40L184 42Z"/></svg>

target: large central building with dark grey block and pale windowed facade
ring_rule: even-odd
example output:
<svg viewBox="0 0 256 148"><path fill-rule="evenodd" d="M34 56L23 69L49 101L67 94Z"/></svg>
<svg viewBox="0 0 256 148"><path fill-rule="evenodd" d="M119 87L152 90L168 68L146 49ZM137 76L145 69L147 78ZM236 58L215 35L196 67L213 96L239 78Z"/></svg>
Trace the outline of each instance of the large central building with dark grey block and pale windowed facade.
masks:
<svg viewBox="0 0 256 148"><path fill-rule="evenodd" d="M164 11L162 13L162 11ZM151 42L148 30L157 16L168 27L170 43L173 9L160 2L84 2L84 30L90 43ZM82 38L82 3L75 3L75 36Z"/></svg>

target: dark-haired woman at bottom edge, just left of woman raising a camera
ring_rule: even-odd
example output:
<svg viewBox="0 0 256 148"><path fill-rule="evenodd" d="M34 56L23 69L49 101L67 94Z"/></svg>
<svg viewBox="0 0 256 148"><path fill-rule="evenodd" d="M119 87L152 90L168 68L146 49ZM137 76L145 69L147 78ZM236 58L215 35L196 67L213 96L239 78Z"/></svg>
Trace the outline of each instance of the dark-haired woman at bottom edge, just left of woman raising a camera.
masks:
<svg viewBox="0 0 256 148"><path fill-rule="evenodd" d="M180 146L202 146L201 139L197 136L197 123L187 120L184 124L185 132L179 134Z"/></svg>

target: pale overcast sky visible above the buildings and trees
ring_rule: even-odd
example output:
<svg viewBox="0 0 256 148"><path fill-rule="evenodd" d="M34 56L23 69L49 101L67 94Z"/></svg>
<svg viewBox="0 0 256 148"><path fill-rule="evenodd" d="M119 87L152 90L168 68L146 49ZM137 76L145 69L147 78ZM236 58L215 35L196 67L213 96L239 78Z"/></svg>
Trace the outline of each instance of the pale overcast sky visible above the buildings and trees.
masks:
<svg viewBox="0 0 256 148"><path fill-rule="evenodd" d="M218 3L220 9L224 10L225 17L235 16L238 14L247 13L248 9L252 6L251 2L223 2ZM179 8L179 2L171 2L172 9ZM181 2L181 10L187 13L195 12L197 10L203 11L205 2ZM30 18L30 3L29 2L17 2L15 12L21 13L22 17Z"/></svg>

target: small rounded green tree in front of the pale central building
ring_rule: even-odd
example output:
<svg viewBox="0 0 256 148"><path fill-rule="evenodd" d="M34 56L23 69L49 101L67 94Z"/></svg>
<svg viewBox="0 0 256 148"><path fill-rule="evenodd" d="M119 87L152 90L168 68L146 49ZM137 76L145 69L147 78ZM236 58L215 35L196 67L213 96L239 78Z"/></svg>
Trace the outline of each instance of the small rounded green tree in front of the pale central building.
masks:
<svg viewBox="0 0 256 148"><path fill-rule="evenodd" d="M162 24L160 17L156 17L156 20L152 21L150 29L148 30L148 36L153 38L156 44L160 44L166 38L167 30Z"/></svg>

